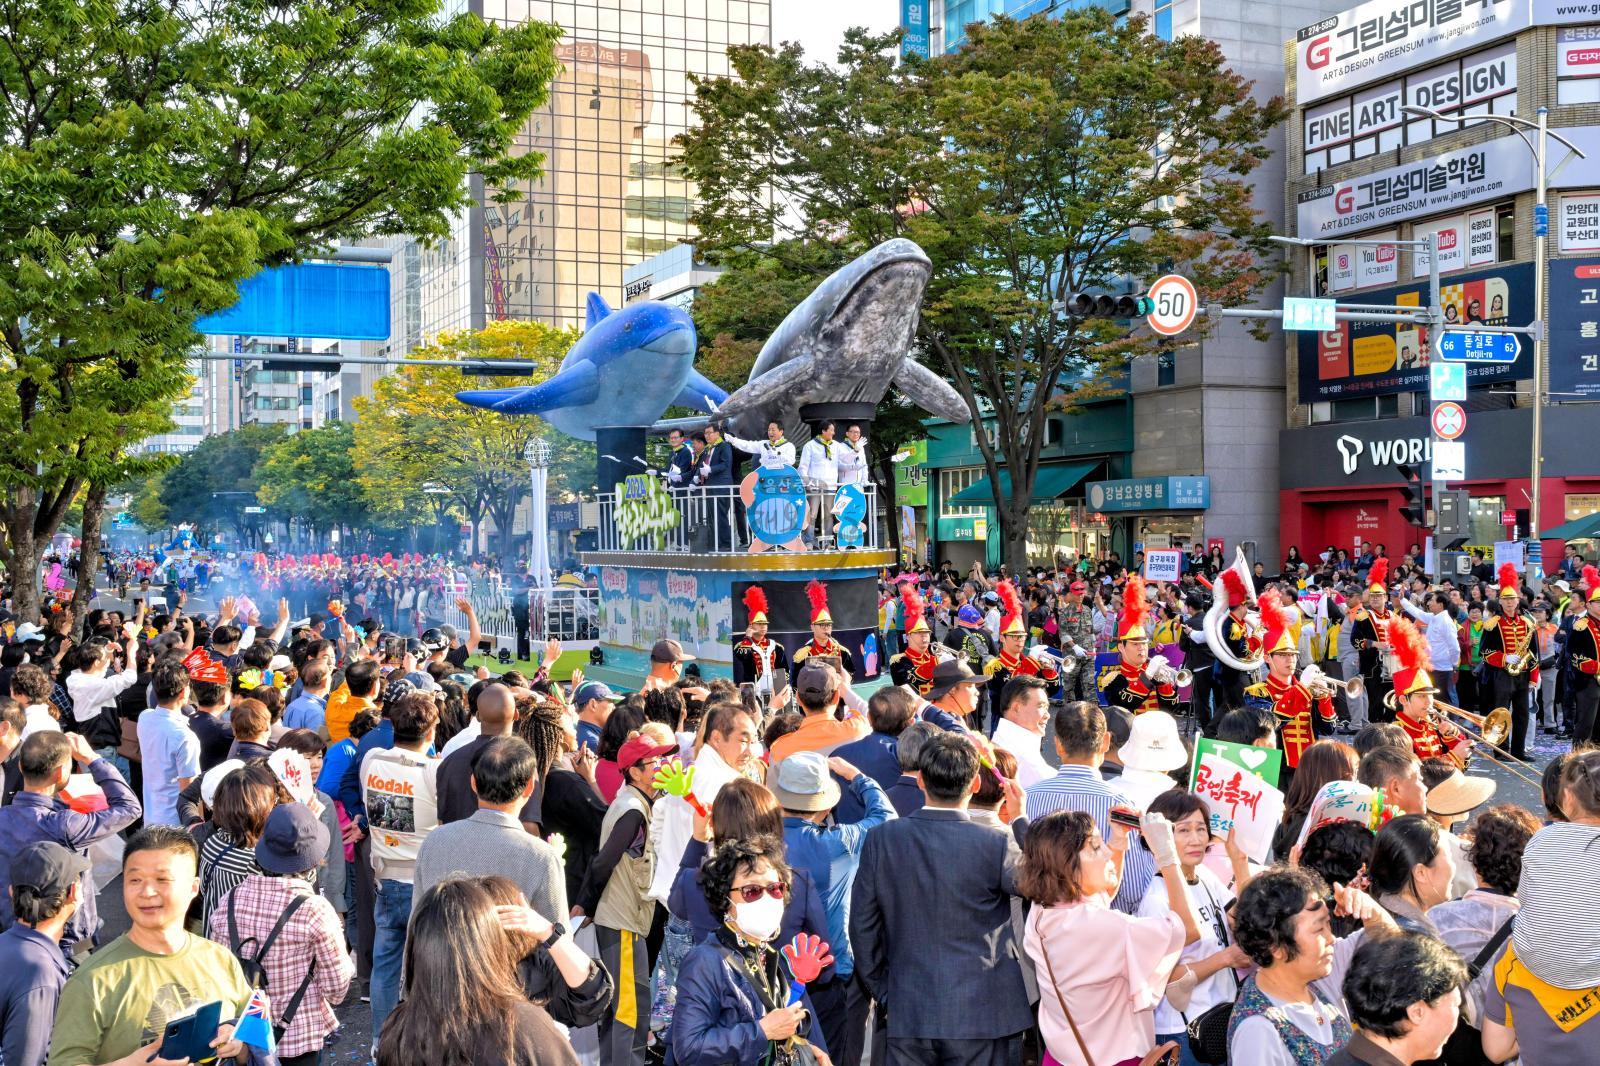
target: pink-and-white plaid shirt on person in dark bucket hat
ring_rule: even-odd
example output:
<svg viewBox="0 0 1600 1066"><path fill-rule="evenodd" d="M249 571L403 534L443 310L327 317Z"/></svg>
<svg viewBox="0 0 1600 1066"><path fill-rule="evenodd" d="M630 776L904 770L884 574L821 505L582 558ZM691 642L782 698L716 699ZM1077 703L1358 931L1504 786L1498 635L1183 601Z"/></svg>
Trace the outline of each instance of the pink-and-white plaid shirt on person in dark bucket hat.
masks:
<svg viewBox="0 0 1600 1066"><path fill-rule="evenodd" d="M267 996L272 997L272 1016L288 1007L294 991L306 980L306 967L317 960L306 997L294 1012L288 1031L278 1040L278 1056L294 1058L320 1052L328 1034L339 1028L333 1004L344 999L355 976L355 964L344 951L344 927L333 904L312 892L312 885L299 877L272 877L251 874L229 892L211 912L211 940L230 948L227 936L227 908L234 903L238 922L238 940L251 936L256 943L250 951L259 951L262 941L277 925L283 909L294 896L307 896L294 917L288 920L272 951L261 960L267 972Z"/></svg>

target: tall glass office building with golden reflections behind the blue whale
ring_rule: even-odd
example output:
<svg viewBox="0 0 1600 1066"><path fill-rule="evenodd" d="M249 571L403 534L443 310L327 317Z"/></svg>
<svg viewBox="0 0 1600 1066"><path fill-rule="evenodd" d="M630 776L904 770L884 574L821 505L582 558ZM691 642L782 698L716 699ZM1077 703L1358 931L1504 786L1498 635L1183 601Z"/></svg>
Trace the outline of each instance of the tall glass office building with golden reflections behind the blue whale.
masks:
<svg viewBox="0 0 1600 1066"><path fill-rule="evenodd" d="M482 206L450 240L395 248L389 349L499 319L582 325L590 291L622 303L622 272L694 237L694 187L670 170L691 122L690 75L728 74L728 46L771 42L766 0L470 0L483 18L555 22L562 70L517 139L544 176Z"/></svg>

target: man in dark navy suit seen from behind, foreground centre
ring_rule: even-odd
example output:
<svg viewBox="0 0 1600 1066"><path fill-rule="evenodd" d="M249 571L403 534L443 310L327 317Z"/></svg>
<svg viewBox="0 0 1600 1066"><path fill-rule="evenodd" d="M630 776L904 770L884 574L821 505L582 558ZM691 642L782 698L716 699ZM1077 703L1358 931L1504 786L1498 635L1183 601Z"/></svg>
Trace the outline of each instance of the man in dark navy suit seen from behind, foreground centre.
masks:
<svg viewBox="0 0 1600 1066"><path fill-rule="evenodd" d="M926 807L869 832L861 852L856 975L885 1007L890 1066L1005 1066L1034 1024L1011 927L1016 840L966 816L979 784L970 739L933 736L917 762Z"/></svg>

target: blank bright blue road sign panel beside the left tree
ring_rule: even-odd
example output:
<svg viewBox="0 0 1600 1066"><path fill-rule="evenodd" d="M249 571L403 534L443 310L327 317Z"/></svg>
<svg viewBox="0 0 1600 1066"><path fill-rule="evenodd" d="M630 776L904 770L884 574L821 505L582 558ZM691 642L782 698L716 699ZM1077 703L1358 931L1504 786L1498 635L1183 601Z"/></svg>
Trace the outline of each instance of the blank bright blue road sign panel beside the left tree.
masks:
<svg viewBox="0 0 1600 1066"><path fill-rule="evenodd" d="M389 269L301 262L262 271L238 285L238 303L195 323L198 333L389 339Z"/></svg>

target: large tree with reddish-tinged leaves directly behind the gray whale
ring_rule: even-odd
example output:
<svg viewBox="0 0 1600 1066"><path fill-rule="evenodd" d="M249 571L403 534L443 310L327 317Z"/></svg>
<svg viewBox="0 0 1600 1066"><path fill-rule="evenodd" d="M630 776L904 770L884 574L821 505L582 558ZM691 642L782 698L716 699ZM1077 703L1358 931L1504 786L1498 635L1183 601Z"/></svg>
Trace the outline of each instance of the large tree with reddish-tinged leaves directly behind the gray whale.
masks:
<svg viewBox="0 0 1600 1066"><path fill-rule="evenodd" d="M819 277L890 237L928 253L918 343L994 421L978 442L1014 570L1046 415L1170 344L1059 301L1181 269L1237 304L1264 280L1250 173L1283 106L1254 101L1211 42L1147 29L1099 8L997 18L906 62L898 32L851 30L837 67L730 48L733 77L696 82L699 122L680 138L714 262Z"/></svg>

